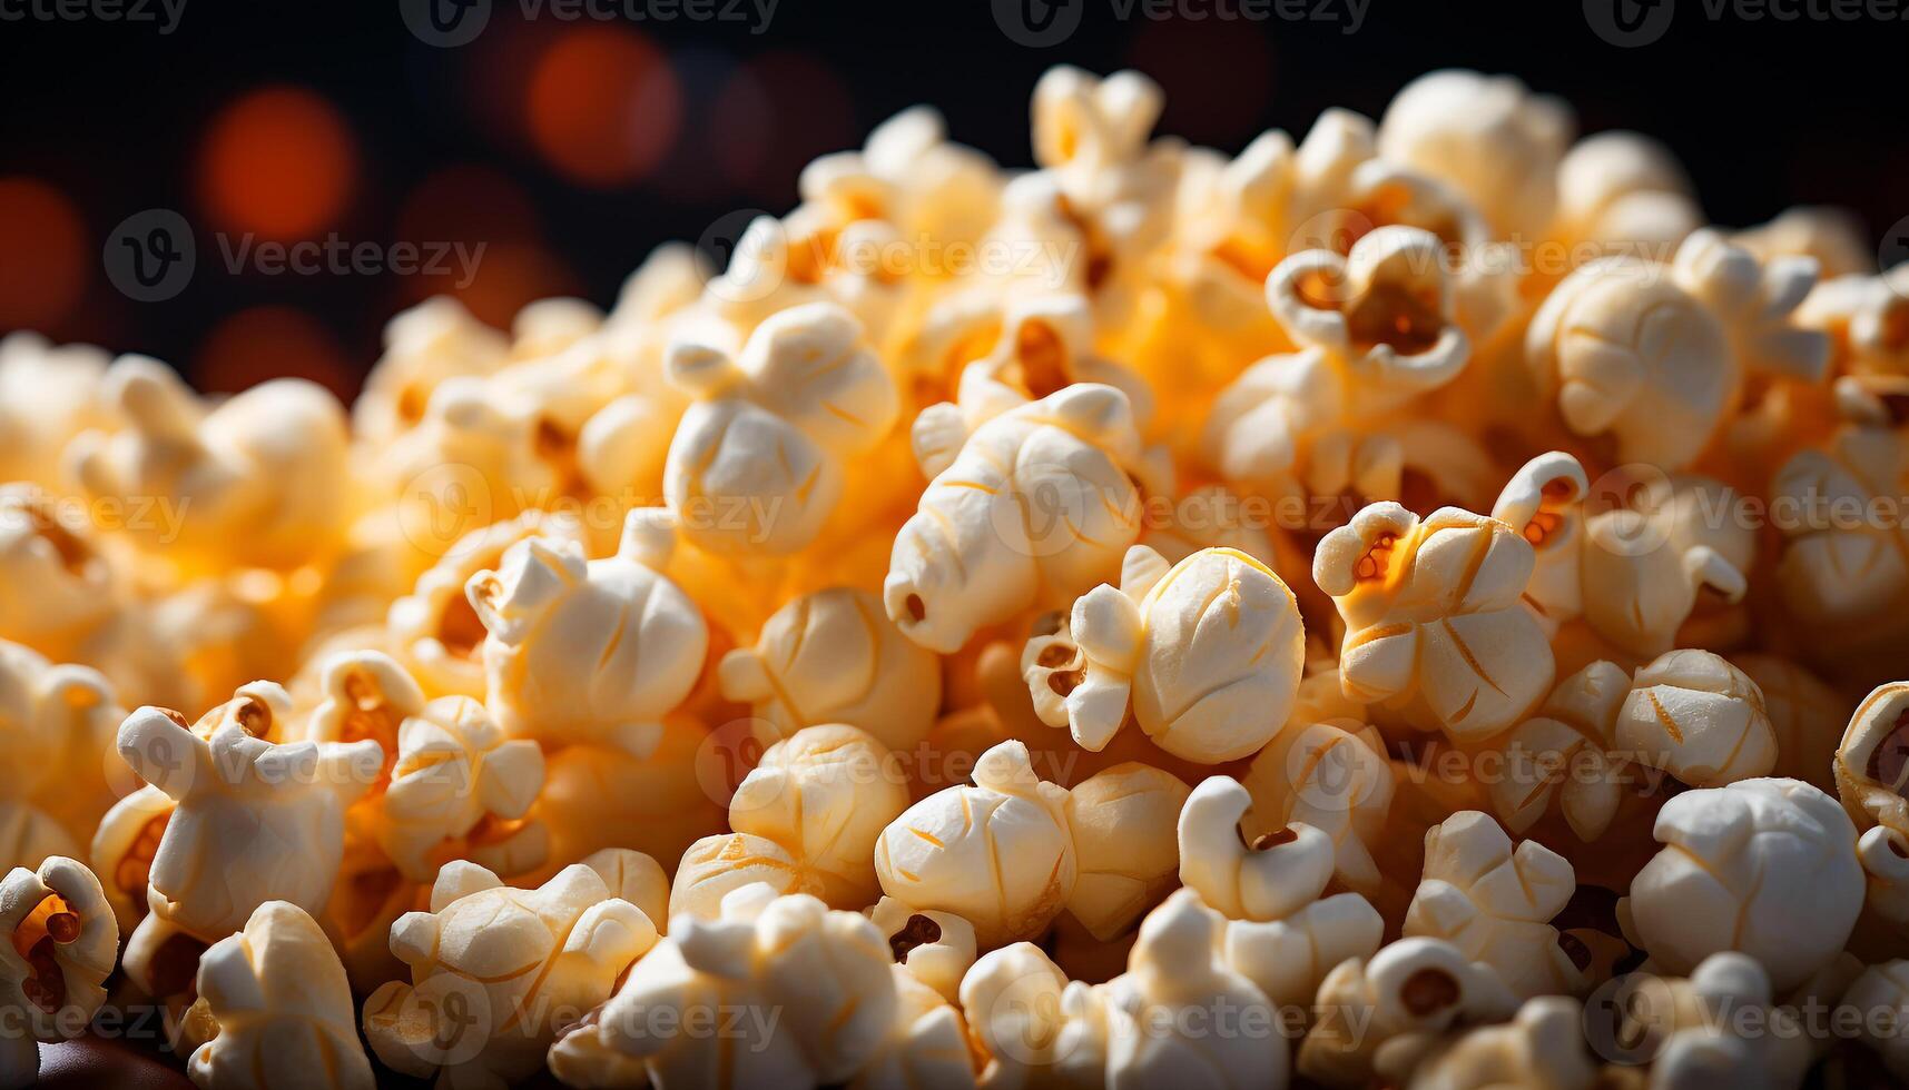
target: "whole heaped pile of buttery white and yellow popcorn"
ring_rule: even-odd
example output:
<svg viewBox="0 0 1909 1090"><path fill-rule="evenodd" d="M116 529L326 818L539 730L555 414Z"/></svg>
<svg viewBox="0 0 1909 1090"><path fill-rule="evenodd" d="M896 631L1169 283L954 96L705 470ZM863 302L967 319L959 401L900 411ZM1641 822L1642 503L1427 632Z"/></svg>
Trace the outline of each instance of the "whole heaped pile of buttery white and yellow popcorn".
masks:
<svg viewBox="0 0 1909 1090"><path fill-rule="evenodd" d="M1512 78L1159 111L349 412L8 338L0 1086L1909 1079L1909 265Z"/></svg>

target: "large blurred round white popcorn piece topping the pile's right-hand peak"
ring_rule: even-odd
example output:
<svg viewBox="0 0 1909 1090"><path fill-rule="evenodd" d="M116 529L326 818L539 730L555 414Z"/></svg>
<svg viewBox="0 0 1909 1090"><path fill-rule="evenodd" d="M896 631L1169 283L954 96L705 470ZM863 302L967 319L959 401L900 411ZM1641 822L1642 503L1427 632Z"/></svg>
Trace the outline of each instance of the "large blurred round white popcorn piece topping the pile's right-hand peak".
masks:
<svg viewBox="0 0 1909 1090"><path fill-rule="evenodd" d="M1499 235L1539 239L1575 128L1571 107L1512 76L1441 69L1394 95L1378 155L1457 185Z"/></svg>

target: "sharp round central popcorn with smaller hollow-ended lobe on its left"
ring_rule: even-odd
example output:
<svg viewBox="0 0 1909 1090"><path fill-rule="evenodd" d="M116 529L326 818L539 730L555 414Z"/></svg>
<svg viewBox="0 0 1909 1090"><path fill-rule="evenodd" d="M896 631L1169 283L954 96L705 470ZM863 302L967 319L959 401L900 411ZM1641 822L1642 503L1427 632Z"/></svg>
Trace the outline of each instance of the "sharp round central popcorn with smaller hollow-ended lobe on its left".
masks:
<svg viewBox="0 0 1909 1090"><path fill-rule="evenodd" d="M1132 716L1163 750L1222 764L1285 723L1304 657L1298 603L1258 559L1212 548L1168 569L1134 546L1121 586L1075 601L1063 632L1027 643L1021 670L1042 722L1088 750Z"/></svg>

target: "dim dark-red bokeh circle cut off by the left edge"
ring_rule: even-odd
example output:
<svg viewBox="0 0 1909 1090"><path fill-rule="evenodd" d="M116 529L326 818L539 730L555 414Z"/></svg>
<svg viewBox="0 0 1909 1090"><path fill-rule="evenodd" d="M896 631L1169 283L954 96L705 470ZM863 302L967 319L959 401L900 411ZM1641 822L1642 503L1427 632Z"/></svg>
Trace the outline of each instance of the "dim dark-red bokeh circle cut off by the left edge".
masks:
<svg viewBox="0 0 1909 1090"><path fill-rule="evenodd" d="M0 328L53 328L78 304L94 258L73 200L32 178L0 178Z"/></svg>

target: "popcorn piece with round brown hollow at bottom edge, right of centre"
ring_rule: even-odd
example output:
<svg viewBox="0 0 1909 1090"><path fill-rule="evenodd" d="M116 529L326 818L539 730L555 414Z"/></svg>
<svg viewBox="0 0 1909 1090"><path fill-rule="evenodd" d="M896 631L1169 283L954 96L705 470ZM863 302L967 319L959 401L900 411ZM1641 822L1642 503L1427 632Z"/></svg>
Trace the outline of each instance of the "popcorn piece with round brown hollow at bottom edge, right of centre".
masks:
<svg viewBox="0 0 1909 1090"><path fill-rule="evenodd" d="M1443 939L1405 937L1371 958L1342 962L1313 1000L1294 1071L1325 1086L1367 1086L1378 1050L1405 1035L1502 1021L1518 998L1489 966Z"/></svg>

